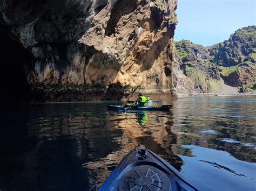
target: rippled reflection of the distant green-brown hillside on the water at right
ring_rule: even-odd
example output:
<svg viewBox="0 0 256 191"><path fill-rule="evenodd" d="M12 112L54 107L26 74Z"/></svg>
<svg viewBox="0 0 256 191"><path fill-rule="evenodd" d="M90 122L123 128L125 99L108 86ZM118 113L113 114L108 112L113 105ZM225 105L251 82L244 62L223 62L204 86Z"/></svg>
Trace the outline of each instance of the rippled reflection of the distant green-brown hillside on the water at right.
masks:
<svg viewBox="0 0 256 191"><path fill-rule="evenodd" d="M174 103L173 132L179 135L180 145L213 148L242 161L256 162L256 103L252 97L184 98L182 105ZM181 146L176 151L191 155Z"/></svg>

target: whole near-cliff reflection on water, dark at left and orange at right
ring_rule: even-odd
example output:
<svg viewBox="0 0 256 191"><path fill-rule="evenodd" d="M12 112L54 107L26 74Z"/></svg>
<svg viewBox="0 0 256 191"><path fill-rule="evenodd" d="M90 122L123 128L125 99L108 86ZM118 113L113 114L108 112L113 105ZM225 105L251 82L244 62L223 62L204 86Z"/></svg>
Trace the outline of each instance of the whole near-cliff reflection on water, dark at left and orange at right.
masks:
<svg viewBox="0 0 256 191"><path fill-rule="evenodd" d="M29 137L41 140L37 150L49 152L49 147L53 150L69 148L65 151L68 153L62 152L62 157L72 155L73 160L81 162L83 169L78 171L84 173L83 179L87 179L87 187L92 190L102 185L113 168L138 143L181 169L182 160L172 152L172 145L177 144L177 135L171 131L172 112L115 112L106 110L105 104L100 103L73 103L68 107L45 104L40 108L39 115L37 107L31 110L28 126ZM65 148L60 140L65 140ZM38 153L34 153L35 163L42 164L37 161Z"/></svg>

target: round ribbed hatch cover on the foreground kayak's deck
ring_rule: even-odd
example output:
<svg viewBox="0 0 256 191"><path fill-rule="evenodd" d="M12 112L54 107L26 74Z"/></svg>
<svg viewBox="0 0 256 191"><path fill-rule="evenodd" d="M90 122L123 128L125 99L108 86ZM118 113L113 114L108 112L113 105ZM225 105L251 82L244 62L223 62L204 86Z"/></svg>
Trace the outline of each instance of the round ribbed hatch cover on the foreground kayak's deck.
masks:
<svg viewBox="0 0 256 191"><path fill-rule="evenodd" d="M163 171L150 165L142 165L125 173L119 190L171 190L171 183Z"/></svg>

